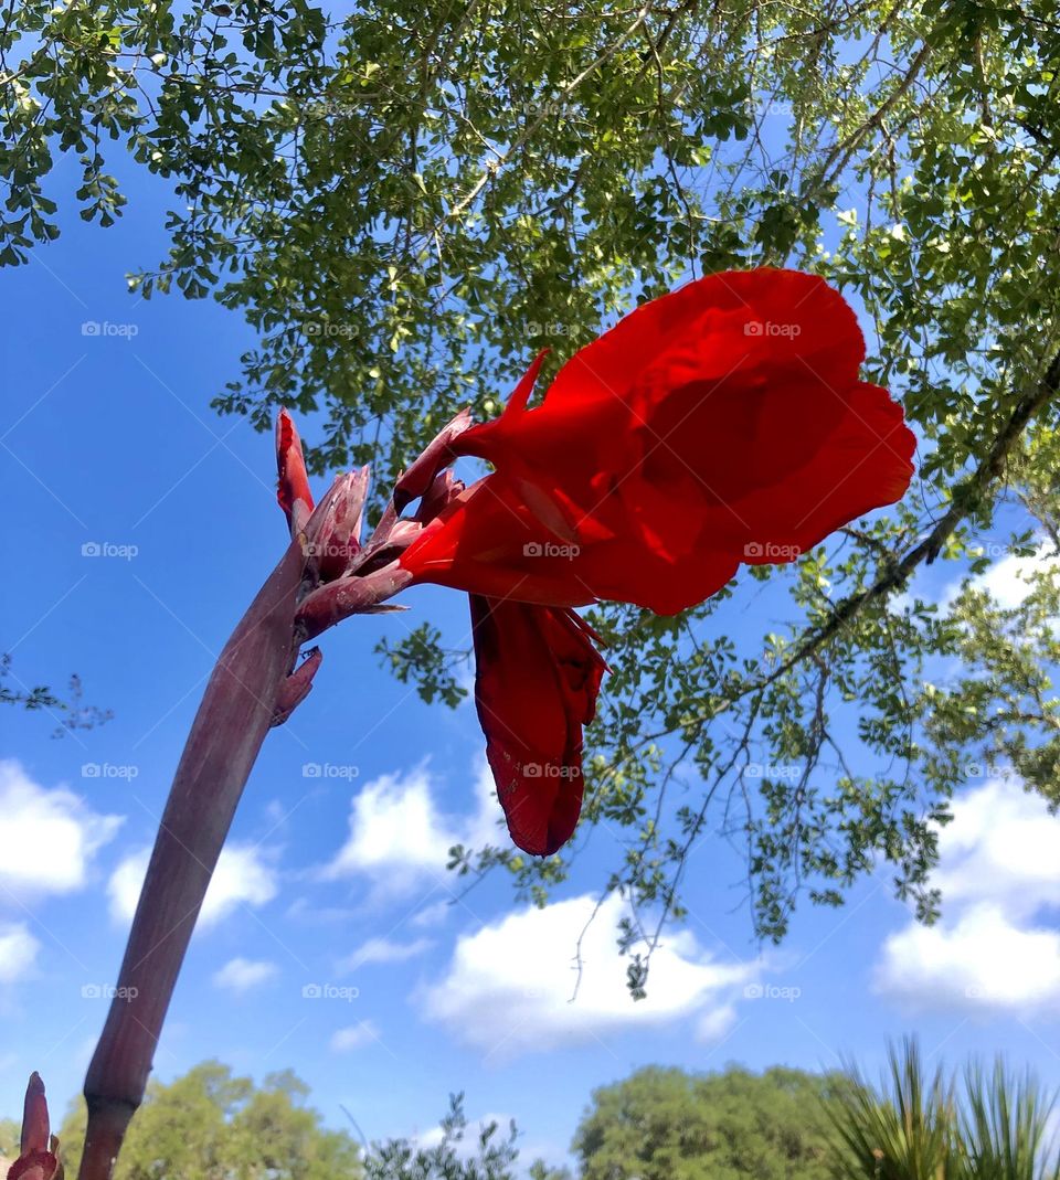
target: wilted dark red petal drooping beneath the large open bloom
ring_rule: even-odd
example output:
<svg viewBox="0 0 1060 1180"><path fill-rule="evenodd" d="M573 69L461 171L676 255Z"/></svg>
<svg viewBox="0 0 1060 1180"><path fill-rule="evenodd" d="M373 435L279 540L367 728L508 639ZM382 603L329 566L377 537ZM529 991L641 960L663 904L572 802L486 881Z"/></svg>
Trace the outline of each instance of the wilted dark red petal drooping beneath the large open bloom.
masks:
<svg viewBox="0 0 1060 1180"><path fill-rule="evenodd" d="M572 611L471 596L475 702L512 840L548 857L582 806L582 726L606 670Z"/></svg>

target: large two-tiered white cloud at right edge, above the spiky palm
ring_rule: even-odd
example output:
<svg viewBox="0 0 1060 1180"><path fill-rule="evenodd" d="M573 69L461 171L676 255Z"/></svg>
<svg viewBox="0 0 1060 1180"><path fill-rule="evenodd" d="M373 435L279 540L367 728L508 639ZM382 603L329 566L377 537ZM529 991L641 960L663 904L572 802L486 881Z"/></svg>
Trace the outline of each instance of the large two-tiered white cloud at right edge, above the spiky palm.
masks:
<svg viewBox="0 0 1060 1180"><path fill-rule="evenodd" d="M918 1007L1060 1009L1060 817L1015 780L958 798L938 837L943 917L891 935L876 988Z"/></svg>

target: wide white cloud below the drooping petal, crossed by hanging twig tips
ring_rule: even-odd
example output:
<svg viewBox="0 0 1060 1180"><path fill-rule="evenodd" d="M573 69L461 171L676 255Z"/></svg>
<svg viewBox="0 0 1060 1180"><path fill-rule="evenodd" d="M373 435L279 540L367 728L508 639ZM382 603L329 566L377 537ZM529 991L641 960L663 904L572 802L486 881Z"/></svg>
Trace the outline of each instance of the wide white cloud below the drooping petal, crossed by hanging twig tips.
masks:
<svg viewBox="0 0 1060 1180"><path fill-rule="evenodd" d="M717 1035L759 964L713 962L691 933L675 932L652 957L647 999L634 1003L628 959L615 945L624 903L614 894L582 937L583 971L571 998L575 948L594 906L584 896L529 907L463 936L445 977L420 995L424 1016L500 1057L693 1016L700 1035Z"/></svg>

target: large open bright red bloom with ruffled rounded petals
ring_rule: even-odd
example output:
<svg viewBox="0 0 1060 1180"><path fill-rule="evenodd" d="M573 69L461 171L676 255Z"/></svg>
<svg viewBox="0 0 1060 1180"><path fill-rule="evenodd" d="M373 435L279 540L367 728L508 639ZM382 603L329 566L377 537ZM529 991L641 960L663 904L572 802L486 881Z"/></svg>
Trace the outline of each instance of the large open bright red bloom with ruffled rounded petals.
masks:
<svg viewBox="0 0 1060 1180"><path fill-rule="evenodd" d="M689 283L576 353L541 406L526 408L538 359L500 418L460 433L449 454L496 474L401 564L535 602L695 605L740 562L791 560L904 493L915 439L858 380L864 352L813 275Z"/></svg>

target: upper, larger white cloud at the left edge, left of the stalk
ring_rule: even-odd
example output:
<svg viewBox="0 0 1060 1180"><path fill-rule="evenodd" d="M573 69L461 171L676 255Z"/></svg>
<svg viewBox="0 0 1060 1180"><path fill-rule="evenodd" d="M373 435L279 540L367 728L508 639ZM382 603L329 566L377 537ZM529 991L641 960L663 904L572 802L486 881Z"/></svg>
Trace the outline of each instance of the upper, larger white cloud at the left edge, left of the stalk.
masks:
<svg viewBox="0 0 1060 1180"><path fill-rule="evenodd" d="M81 889L96 852L122 826L63 787L35 784L14 760L0 761L0 884L42 893Z"/></svg>

